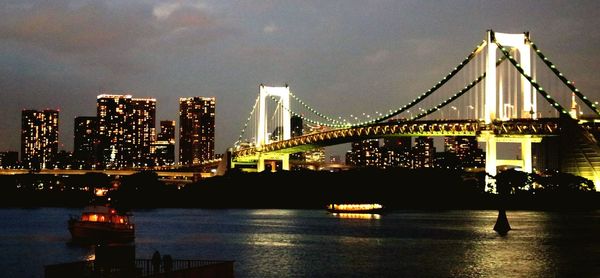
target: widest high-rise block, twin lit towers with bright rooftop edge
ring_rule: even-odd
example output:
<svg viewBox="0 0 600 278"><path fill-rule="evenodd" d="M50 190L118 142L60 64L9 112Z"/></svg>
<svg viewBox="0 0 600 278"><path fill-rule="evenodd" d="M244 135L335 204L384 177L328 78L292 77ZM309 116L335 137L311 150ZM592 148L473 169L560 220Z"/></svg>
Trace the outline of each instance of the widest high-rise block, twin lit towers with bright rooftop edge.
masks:
<svg viewBox="0 0 600 278"><path fill-rule="evenodd" d="M156 99L98 96L98 158L107 168L144 166L152 161Z"/></svg>

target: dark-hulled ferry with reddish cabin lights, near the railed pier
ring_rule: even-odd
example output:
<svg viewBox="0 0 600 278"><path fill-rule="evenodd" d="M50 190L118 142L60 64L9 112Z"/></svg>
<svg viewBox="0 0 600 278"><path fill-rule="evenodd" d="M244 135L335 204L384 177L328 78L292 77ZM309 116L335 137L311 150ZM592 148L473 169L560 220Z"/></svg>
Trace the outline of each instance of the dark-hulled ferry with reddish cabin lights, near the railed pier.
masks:
<svg viewBox="0 0 600 278"><path fill-rule="evenodd" d="M87 206L80 218L71 216L69 232L74 241L83 242L131 242L135 238L131 214L108 205Z"/></svg>

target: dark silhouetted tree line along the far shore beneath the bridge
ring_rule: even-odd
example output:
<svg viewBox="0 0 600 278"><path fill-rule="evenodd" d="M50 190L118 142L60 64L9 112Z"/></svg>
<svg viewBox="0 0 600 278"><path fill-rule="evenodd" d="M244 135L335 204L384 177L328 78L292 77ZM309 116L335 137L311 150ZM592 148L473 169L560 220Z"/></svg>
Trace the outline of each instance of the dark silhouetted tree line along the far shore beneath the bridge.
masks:
<svg viewBox="0 0 600 278"><path fill-rule="evenodd" d="M508 208L598 208L591 181L565 173L496 175ZM55 177L0 176L4 206L83 206L95 188L108 188L122 208L323 208L329 203L376 202L391 209L495 209L499 195L486 192L484 173L446 169L354 169L342 172L241 173L183 187L164 184L154 172L118 180L104 174Z"/></svg>

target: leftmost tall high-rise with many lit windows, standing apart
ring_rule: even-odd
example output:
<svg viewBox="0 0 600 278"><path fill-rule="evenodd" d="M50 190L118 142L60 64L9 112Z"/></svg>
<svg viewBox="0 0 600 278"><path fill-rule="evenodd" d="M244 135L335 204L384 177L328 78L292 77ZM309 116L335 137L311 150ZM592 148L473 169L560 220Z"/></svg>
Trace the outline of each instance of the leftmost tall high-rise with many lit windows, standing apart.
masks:
<svg viewBox="0 0 600 278"><path fill-rule="evenodd" d="M25 168L53 168L58 153L58 110L23 110L21 161Z"/></svg>

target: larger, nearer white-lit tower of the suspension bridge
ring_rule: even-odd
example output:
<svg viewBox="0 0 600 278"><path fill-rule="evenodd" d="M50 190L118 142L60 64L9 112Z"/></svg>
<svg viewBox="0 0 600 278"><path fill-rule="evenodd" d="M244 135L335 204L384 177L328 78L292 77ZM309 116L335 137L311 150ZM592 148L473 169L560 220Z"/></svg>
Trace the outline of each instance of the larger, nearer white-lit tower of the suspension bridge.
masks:
<svg viewBox="0 0 600 278"><path fill-rule="evenodd" d="M529 76L531 76L531 47L529 46L529 33L527 32L522 34L507 34L488 30L486 42L485 123L490 124L496 119L506 120L509 116L508 114L505 115L506 111L504 109L498 109L498 107L504 107L502 103L504 96L501 90L497 90L496 52L498 46L496 42L502 46L512 47L519 51L519 63L525 74ZM535 119L537 114L535 92L532 91L531 84L523 76L521 76L521 94L523 105L521 107L521 117L528 115L528 118ZM519 115L517 114L516 116L518 117ZM496 175L498 163L501 163L501 165L519 166L527 173L533 171L531 144L539 142L538 139L530 136L500 138L489 131L484 131L479 136L479 141L486 143L485 170L490 175ZM498 160L496 156L496 144L501 142L520 143L521 160ZM487 183L493 184L493 181L488 179Z"/></svg>

